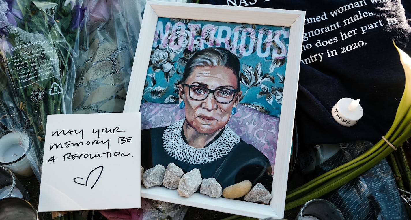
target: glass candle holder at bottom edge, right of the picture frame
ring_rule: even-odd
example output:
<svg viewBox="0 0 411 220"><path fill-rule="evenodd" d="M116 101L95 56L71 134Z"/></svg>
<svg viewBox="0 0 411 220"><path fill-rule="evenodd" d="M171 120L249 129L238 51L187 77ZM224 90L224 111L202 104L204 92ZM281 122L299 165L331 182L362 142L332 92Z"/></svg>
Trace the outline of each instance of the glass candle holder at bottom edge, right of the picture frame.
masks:
<svg viewBox="0 0 411 220"><path fill-rule="evenodd" d="M344 220L337 206L325 199L312 199L302 206L296 220Z"/></svg>

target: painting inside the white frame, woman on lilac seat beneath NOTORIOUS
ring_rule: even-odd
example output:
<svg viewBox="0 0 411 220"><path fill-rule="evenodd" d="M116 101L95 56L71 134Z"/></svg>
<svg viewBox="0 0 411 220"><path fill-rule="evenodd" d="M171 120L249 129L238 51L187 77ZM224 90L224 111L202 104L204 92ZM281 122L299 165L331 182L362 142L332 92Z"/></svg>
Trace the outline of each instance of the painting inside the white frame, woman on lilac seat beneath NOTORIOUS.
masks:
<svg viewBox="0 0 411 220"><path fill-rule="evenodd" d="M159 18L141 98L145 170L271 192L289 27Z"/></svg>

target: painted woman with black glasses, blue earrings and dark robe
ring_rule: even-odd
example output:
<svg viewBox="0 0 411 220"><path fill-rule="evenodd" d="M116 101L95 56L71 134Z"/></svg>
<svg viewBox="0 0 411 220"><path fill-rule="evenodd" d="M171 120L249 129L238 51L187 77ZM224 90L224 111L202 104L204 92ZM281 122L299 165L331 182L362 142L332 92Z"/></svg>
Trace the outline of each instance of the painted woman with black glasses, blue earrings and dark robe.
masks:
<svg viewBox="0 0 411 220"><path fill-rule="evenodd" d="M198 50L177 88L184 117L142 131L143 167L174 163L184 172L199 169L203 179L214 177L222 188L249 180L271 190L270 160L227 126L242 96L238 57L226 48Z"/></svg>

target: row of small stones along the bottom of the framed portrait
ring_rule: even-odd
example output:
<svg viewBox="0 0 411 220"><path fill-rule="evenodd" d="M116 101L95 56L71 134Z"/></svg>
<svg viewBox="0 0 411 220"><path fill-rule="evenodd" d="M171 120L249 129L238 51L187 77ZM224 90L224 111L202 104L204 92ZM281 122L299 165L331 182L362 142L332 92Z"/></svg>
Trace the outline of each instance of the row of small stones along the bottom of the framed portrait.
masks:
<svg viewBox="0 0 411 220"><path fill-rule="evenodd" d="M257 183L252 188L252 183L245 180L222 190L221 185L213 177L202 179L199 169L193 169L184 174L181 168L174 163L167 165L167 169L162 165L156 165L146 171L141 168L141 173L145 188L165 186L169 189L177 189L178 195L185 197L190 197L200 188L201 194L210 197L223 196L228 199L236 199L244 196L244 200L247 202L260 202L262 204L269 204L272 198L270 192L261 183Z"/></svg>

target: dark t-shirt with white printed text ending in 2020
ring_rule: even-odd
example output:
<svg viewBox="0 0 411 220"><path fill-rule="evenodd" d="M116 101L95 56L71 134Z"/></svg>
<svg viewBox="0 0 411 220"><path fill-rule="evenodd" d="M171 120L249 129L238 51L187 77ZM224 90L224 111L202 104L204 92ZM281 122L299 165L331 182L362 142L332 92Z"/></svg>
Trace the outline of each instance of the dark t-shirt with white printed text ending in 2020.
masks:
<svg viewBox="0 0 411 220"><path fill-rule="evenodd" d="M395 44L411 55L411 2L399 0L203 0L205 4L306 11L296 123L301 147L376 141L393 123L404 91ZM270 19L270 18L267 18ZM339 125L331 109L360 99L363 117Z"/></svg>

